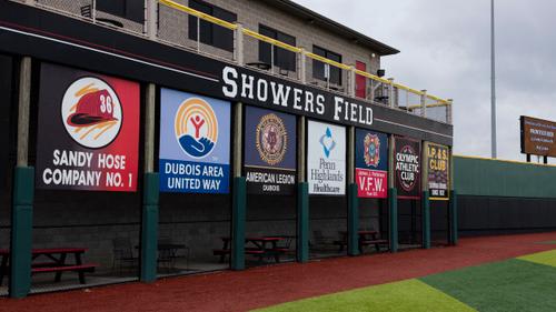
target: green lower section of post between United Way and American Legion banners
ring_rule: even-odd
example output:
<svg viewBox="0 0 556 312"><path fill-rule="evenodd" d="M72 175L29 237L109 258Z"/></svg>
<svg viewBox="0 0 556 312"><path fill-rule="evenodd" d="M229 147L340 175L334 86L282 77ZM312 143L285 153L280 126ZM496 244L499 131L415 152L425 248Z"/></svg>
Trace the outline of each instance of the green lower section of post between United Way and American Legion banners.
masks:
<svg viewBox="0 0 556 312"><path fill-rule="evenodd" d="M232 229L231 229L231 269L245 269L245 223L246 223L246 179L234 178Z"/></svg>

